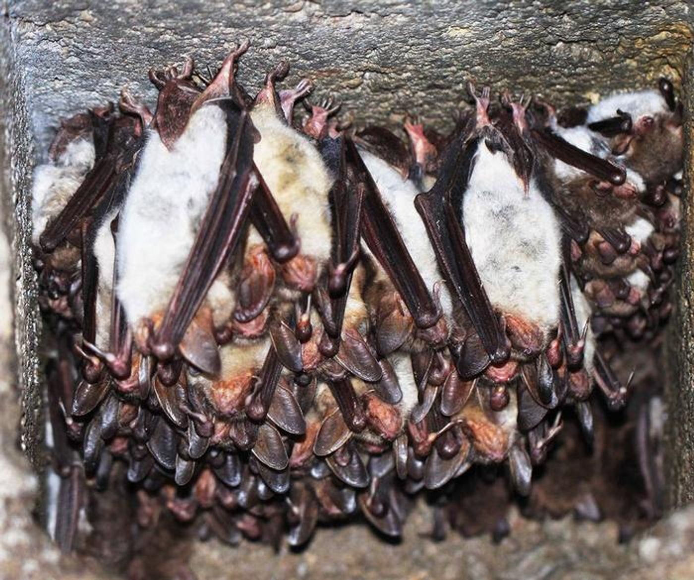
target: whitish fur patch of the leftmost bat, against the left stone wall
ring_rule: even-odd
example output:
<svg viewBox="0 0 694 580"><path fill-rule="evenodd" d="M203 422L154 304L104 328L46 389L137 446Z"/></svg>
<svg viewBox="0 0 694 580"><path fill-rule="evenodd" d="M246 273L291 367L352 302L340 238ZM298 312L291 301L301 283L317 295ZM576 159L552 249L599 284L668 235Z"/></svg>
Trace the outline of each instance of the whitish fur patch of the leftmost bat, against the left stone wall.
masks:
<svg viewBox="0 0 694 580"><path fill-rule="evenodd" d="M91 139L71 142L55 163L36 167L31 190L32 241L38 244L48 222L57 216L94 165Z"/></svg>

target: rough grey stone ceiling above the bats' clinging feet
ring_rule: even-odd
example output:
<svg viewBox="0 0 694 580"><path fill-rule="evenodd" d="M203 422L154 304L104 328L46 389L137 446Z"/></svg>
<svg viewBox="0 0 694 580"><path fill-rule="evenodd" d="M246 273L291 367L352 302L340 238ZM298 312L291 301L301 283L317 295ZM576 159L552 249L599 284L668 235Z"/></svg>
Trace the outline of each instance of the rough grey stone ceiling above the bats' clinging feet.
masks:
<svg viewBox="0 0 694 580"><path fill-rule="evenodd" d="M149 67L185 55L216 65L243 38L253 42L240 75L250 89L288 58L290 82L310 76L359 119L409 110L439 123L465 99L467 78L589 99L663 73L679 80L692 40L688 3L672 0L15 0L9 17L42 144L60 116L115 99L125 83L153 100Z"/></svg>

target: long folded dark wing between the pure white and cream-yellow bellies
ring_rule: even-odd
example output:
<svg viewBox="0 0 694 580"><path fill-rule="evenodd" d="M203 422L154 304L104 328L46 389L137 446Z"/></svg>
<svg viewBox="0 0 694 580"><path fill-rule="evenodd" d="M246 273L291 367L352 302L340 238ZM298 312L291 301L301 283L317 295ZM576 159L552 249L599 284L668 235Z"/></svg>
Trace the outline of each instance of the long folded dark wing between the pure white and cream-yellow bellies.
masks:
<svg viewBox="0 0 694 580"><path fill-rule="evenodd" d="M230 101L221 101L228 119L227 152L221 164L217 189L198 230L176 289L153 336L152 348L160 359L174 355L190 322L208 293L221 266L234 252L253 201L253 124L248 112ZM209 373L219 371L219 353L196 357L196 364Z"/></svg>

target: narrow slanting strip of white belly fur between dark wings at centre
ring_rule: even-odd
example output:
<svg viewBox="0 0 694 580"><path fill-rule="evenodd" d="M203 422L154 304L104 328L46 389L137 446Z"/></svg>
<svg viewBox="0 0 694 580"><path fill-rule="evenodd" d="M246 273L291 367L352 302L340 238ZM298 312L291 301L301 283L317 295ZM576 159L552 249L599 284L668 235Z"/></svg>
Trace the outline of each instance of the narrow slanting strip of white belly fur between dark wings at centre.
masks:
<svg viewBox="0 0 694 580"><path fill-rule="evenodd" d="M407 246L424 283L429 291L432 291L434 284L443 280L443 276L439 272L436 255L429 241L427 230L414 207L414 198L419 194L419 190L414 182L403 178L399 171L380 157L376 157L368 151L359 151L359 154L362 155L366 169L369 169L384 203L395 219L400 235L403 237L405 246ZM362 244L362 246L366 251L369 251L366 244ZM378 262L375 263L378 264ZM441 285L441 306L443 312L450 315L452 309L450 294L443 284Z"/></svg>

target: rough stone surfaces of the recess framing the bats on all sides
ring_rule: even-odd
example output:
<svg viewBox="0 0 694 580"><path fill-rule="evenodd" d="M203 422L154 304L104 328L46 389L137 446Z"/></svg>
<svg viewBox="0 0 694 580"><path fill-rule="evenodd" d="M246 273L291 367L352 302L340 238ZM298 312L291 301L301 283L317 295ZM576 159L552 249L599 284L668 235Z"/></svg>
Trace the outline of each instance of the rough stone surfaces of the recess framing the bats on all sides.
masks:
<svg viewBox="0 0 694 580"><path fill-rule="evenodd" d="M693 40L690 7L677 1L630 0L618 6L587 0L570 6L552 0L446 0L427 7L366 0L143 4L1 3L0 208L11 245L3 246L0 238L0 579L108 577L89 563L59 558L33 526L29 511L37 480L17 450L19 441L35 469L44 465L40 322L27 243L27 191L33 161L43 155L60 117L117 99L125 83L152 102L149 67L187 54L214 65L243 38L255 44L240 74L251 90L274 62L289 58L294 66L290 83L310 76L316 94L334 92L345 101L346 114L359 121L398 123L409 110L439 125L448 123L464 98L467 78L541 92L560 103L589 100L609 89L649 85L661 74L681 80ZM694 91L688 110L694 111ZM694 209L686 212L688 223L694 223L689 215ZM691 237L684 255L683 264L694 259ZM691 273L684 273L680 288L681 337L689 345L694 331L688 308L694 292ZM10 298L13 327L7 316ZM675 452L673 505L694 498L694 346L681 352L681 380L671 393L676 402L671 416L677 420L670 421L675 429L668 446ZM208 543L196 548L193 565L201 580L228 576L232 560L238 577L258 579L694 577L687 549L694 541L692 509L672 515L652 531L652 538L629 547L616 545L616 527L610 523L512 521L514 535L499 547L488 538L457 536L434 544L418 535L430 525L418 513L400 545L376 540L366 527L323 529L300 554L276 557L266 547L246 546L239 558L241 552Z"/></svg>

